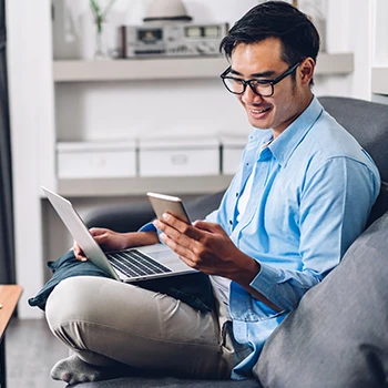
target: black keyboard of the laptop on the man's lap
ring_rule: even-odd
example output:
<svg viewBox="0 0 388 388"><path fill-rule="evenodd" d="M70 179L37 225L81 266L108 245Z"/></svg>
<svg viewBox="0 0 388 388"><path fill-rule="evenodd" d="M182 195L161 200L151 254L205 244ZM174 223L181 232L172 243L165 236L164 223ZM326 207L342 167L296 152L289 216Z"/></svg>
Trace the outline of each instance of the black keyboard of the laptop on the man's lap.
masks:
<svg viewBox="0 0 388 388"><path fill-rule="evenodd" d="M106 254L109 262L127 277L157 275L172 270L137 249Z"/></svg>

